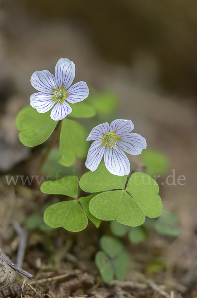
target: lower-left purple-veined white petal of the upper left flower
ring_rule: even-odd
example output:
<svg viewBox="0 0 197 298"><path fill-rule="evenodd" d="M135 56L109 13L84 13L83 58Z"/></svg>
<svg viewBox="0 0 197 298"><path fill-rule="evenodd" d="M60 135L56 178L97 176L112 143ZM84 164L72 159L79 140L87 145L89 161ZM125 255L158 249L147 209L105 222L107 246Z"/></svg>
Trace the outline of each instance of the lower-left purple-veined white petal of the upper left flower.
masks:
<svg viewBox="0 0 197 298"><path fill-rule="evenodd" d="M30 97L30 105L39 113L48 112L55 102L52 100L52 95L44 94L42 92L34 93Z"/></svg>

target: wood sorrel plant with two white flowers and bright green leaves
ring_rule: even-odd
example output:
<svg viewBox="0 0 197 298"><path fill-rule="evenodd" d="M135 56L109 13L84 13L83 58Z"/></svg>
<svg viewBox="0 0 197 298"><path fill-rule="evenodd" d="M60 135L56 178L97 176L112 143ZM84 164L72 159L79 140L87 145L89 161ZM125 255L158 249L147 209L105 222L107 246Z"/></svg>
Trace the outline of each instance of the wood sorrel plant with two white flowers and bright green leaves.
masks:
<svg viewBox="0 0 197 298"><path fill-rule="evenodd" d="M141 172L127 177L130 163L124 152L141 154L146 149L146 140L131 133L134 129L132 121L123 119L114 120L110 125L107 122L100 124L87 137L85 128L70 117L93 117L96 110L84 102L89 94L85 82L71 86L74 77L75 65L67 58L57 62L55 77L48 71L35 72L31 83L39 92L30 97L30 105L20 111L16 119L20 141L26 146L37 146L46 141L58 124L47 153L60 135L58 161L67 167L77 157L86 157L86 140L94 141L85 163L90 171L80 181L77 176L66 176L41 185L44 193L73 198L65 198L65 201L48 207L44 213L45 223L53 228L64 227L78 232L86 228L88 219L96 227L101 220L139 226L145 216L158 217L162 202L156 181ZM104 163L101 163L103 156ZM87 196L80 197L79 186L88 193Z"/></svg>

